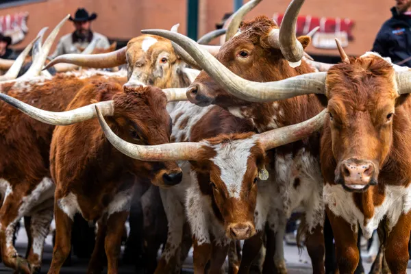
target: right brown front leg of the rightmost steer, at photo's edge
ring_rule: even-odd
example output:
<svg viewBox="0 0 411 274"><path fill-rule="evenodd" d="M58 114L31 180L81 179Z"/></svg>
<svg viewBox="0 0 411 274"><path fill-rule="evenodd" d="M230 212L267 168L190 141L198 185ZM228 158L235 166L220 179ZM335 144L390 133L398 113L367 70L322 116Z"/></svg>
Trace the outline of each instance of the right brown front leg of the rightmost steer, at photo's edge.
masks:
<svg viewBox="0 0 411 274"><path fill-rule="evenodd" d="M407 273L409 259L408 241L410 240L411 211L401 214L386 241L385 258L390 271L395 274Z"/></svg>

